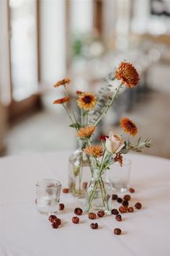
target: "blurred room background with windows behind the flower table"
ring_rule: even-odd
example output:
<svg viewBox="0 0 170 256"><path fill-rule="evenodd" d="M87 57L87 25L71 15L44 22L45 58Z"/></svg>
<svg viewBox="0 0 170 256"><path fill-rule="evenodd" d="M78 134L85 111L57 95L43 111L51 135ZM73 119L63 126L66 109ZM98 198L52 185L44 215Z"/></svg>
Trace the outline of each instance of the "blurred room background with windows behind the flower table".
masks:
<svg viewBox="0 0 170 256"><path fill-rule="evenodd" d="M97 93L123 59L141 80L97 132L128 116L153 141L144 153L170 158L170 0L0 0L0 154L76 148L52 85Z"/></svg>

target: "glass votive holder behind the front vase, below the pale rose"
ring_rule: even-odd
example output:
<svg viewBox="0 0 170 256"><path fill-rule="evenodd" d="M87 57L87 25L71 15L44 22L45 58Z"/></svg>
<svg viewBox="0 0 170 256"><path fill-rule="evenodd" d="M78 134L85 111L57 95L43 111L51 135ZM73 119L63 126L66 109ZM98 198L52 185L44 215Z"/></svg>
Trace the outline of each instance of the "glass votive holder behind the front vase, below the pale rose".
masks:
<svg viewBox="0 0 170 256"><path fill-rule="evenodd" d="M120 163L115 162L112 164L108 171L109 182L112 183L112 187L116 192L126 192L130 183L130 170L131 161L123 158L122 166Z"/></svg>

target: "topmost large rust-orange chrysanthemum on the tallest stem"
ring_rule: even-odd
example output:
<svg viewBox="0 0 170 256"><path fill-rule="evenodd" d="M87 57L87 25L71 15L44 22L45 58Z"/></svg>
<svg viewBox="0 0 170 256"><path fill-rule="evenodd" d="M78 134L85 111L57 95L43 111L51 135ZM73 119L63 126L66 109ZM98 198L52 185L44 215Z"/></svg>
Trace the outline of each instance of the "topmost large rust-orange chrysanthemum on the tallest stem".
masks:
<svg viewBox="0 0 170 256"><path fill-rule="evenodd" d="M138 85L138 82L140 80L139 74L133 64L123 61L117 68L117 71L115 72L115 77L117 78L117 80L121 80L122 85L126 84L130 88Z"/></svg>

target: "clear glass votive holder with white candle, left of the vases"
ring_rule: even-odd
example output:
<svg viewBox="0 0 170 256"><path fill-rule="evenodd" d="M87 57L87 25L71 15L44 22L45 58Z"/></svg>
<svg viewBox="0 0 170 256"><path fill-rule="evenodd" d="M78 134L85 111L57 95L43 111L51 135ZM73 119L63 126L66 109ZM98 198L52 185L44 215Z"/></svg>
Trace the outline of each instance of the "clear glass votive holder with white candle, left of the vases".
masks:
<svg viewBox="0 0 170 256"><path fill-rule="evenodd" d="M58 213L61 182L55 179L41 179L36 184L37 210L50 215Z"/></svg>

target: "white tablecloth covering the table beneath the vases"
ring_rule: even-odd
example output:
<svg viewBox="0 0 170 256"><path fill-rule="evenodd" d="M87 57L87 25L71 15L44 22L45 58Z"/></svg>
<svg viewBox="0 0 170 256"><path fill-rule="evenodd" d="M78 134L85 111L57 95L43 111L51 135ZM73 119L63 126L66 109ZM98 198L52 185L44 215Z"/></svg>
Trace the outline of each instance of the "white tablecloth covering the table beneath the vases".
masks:
<svg viewBox="0 0 170 256"><path fill-rule="evenodd" d="M170 255L170 161L146 155L129 155L133 161L131 194L143 208L122 215L98 218L92 230L86 215L71 223L73 209L82 202L61 193L66 210L60 213L62 226L52 229L47 217L37 213L35 183L38 179L59 179L67 187L70 152L19 155L0 159L0 255ZM117 205L115 205L117 207ZM122 229L120 236L112 234Z"/></svg>

